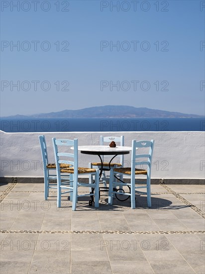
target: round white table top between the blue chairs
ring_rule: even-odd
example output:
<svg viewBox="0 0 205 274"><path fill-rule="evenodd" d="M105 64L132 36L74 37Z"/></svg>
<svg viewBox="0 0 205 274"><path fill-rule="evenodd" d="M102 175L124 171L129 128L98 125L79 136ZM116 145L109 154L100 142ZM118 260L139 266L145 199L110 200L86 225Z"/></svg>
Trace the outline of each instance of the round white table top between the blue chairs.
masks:
<svg viewBox="0 0 205 274"><path fill-rule="evenodd" d="M109 145L79 145L78 150L82 151L96 151L96 152L120 152L131 151L131 146L116 146L109 147Z"/></svg>

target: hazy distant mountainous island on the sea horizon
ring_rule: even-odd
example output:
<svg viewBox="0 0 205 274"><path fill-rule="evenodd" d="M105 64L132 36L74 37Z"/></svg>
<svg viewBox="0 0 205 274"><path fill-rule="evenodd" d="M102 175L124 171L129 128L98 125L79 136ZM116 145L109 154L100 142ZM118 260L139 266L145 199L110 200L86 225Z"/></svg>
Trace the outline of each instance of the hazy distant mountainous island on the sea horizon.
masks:
<svg viewBox="0 0 205 274"><path fill-rule="evenodd" d="M60 112L40 113L34 115L14 115L3 118L200 118L204 116L153 110L148 108L135 108L130 106L102 106L85 108L81 110L64 110Z"/></svg>

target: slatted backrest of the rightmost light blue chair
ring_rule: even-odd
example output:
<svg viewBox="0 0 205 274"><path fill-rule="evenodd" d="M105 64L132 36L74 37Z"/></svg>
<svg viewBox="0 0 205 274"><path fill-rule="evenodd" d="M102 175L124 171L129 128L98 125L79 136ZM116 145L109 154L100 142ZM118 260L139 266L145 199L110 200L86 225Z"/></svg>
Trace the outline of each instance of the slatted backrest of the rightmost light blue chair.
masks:
<svg viewBox="0 0 205 274"><path fill-rule="evenodd" d="M145 148L149 147L149 152L146 154L139 154L139 150L137 148ZM151 164L152 164L152 154L154 148L154 140L147 141L136 141L132 140L132 163L131 168L132 170L135 169L136 166L140 169L146 169L147 167L147 174L148 176L151 173Z"/></svg>

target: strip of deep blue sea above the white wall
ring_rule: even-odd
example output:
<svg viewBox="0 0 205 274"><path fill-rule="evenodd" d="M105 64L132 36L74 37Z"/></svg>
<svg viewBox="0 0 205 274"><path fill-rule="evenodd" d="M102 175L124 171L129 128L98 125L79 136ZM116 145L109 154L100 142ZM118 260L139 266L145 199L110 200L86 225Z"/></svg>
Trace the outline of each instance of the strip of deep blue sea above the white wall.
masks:
<svg viewBox="0 0 205 274"><path fill-rule="evenodd" d="M0 130L7 133L205 131L205 118L2 118Z"/></svg>

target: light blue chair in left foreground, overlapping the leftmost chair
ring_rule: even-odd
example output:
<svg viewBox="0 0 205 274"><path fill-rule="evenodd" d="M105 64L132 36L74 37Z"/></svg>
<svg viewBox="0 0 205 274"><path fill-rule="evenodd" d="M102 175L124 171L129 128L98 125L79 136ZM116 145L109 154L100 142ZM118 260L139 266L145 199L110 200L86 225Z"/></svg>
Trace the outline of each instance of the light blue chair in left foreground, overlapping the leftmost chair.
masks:
<svg viewBox="0 0 205 274"><path fill-rule="evenodd" d="M71 200L73 201L72 210L76 210L76 204L78 202L78 197L94 196L95 197L95 207L99 207L99 170L94 168L78 167L78 139L53 139L53 147L56 161L56 172L57 172L57 207L61 207L61 189L67 188L68 191L64 193L71 193ZM66 151L73 147L74 150L70 152L59 152L59 147L65 146ZM61 160L60 158L66 158L67 160ZM72 167L61 168L61 163L67 163L72 165ZM70 186L64 186L61 181L61 173L70 174ZM95 182L93 183L83 183L78 182L79 174L92 174L95 175ZM78 187L91 187L95 188L95 193L89 193L84 195L78 195ZM92 200L91 200L92 202ZM89 202L90 204L90 202ZM91 205L91 204L90 204Z"/></svg>

